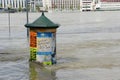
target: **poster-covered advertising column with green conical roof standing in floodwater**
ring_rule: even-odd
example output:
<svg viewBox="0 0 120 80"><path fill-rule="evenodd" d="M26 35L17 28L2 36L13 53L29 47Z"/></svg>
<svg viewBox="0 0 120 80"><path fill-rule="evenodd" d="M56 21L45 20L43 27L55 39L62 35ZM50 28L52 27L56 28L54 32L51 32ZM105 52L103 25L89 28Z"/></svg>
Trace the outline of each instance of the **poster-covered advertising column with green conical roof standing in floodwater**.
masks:
<svg viewBox="0 0 120 80"><path fill-rule="evenodd" d="M30 28L30 61L36 61L43 65L56 64L56 28L44 13L31 24Z"/></svg>

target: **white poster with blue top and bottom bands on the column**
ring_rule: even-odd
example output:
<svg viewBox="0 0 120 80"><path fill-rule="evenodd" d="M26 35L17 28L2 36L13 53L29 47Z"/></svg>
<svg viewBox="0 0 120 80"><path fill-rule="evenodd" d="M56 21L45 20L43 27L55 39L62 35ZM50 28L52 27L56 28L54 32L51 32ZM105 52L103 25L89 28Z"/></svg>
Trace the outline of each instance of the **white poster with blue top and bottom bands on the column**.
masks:
<svg viewBox="0 0 120 80"><path fill-rule="evenodd" d="M52 53L52 33L37 33L38 54L49 55Z"/></svg>

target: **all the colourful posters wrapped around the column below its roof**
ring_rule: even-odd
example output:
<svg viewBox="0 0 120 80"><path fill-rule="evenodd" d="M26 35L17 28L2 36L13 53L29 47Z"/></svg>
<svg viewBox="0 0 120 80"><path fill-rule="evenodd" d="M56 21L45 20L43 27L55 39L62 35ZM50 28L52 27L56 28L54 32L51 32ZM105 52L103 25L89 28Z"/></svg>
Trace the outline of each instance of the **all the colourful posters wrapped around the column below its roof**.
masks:
<svg viewBox="0 0 120 80"><path fill-rule="evenodd" d="M56 63L56 34L30 31L30 60L44 65Z"/></svg>

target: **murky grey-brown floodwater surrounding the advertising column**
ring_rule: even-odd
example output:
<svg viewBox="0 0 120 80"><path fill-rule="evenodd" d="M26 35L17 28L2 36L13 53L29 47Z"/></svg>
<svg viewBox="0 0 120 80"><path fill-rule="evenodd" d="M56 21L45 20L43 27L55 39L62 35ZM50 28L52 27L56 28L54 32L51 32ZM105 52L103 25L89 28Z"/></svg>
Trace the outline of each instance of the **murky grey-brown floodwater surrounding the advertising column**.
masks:
<svg viewBox="0 0 120 80"><path fill-rule="evenodd" d="M120 11L53 12L57 64L29 62L26 13L0 14L0 80L120 80ZM29 13L29 22L41 13ZM9 34L10 28L10 34ZM10 35L10 36L9 36Z"/></svg>

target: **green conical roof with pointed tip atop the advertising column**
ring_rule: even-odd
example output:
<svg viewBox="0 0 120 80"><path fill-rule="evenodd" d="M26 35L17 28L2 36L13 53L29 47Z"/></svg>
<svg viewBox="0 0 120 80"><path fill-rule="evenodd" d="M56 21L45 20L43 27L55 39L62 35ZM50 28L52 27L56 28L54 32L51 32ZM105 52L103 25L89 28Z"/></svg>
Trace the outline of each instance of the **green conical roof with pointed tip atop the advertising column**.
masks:
<svg viewBox="0 0 120 80"><path fill-rule="evenodd" d="M25 27L27 28L58 28L59 25L49 20L42 12L42 15L37 20L35 20L33 23L26 24Z"/></svg>

